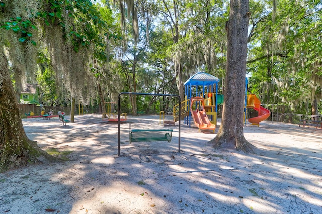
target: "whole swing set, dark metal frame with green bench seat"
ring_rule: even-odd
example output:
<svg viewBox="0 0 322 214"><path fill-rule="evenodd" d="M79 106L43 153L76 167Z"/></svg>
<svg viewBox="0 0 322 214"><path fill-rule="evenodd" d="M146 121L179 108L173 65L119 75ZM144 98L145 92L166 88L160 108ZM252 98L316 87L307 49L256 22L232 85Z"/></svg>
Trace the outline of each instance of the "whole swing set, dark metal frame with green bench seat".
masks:
<svg viewBox="0 0 322 214"><path fill-rule="evenodd" d="M179 109L181 109L181 99L178 95L172 94L154 94L154 93L133 93L133 92L122 92L118 95L118 155L121 155L121 115L120 106L122 95L142 95L142 96L170 96L178 97ZM179 113L179 129L178 129L178 152L180 153L180 113ZM171 141L172 129L131 129L130 127L130 143L131 142L143 142L143 141Z"/></svg>

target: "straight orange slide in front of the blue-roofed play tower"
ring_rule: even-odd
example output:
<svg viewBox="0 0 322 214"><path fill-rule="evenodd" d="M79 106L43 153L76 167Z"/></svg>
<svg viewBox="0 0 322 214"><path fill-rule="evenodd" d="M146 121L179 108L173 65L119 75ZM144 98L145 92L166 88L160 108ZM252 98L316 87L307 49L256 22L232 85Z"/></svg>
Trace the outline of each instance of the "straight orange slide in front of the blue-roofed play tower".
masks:
<svg viewBox="0 0 322 214"><path fill-rule="evenodd" d="M192 110L192 106L194 102L200 102L200 106L202 106L202 109L197 109L197 110ZM206 114L206 111L204 109L204 98L202 97L193 97L191 98L191 105L190 105L190 112L193 118L193 121L196 125L196 127L200 129L210 129L213 130L213 132L215 132L216 129L216 125L212 124L209 121L209 118Z"/></svg>

